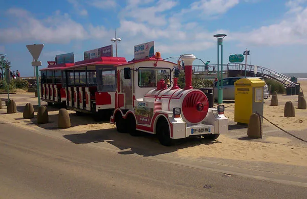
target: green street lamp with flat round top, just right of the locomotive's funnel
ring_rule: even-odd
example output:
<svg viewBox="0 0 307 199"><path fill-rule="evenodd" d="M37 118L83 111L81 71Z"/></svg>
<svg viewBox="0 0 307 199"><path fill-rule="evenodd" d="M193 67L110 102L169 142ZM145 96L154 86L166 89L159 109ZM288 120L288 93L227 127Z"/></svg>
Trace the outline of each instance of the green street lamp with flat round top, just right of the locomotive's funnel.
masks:
<svg viewBox="0 0 307 199"><path fill-rule="evenodd" d="M226 37L226 34L216 34L213 37L217 38L217 103L223 103L223 38ZM220 64L220 49L221 46L221 78L220 78L220 70L218 65ZM221 80L221 81L220 81ZM221 87L220 87L221 82Z"/></svg>

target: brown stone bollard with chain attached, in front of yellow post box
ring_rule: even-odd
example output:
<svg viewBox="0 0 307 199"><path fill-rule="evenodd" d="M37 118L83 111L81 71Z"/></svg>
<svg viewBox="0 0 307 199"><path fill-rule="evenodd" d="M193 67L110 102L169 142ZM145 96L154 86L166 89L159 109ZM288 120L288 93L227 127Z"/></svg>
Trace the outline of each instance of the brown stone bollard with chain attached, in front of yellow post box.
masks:
<svg viewBox="0 0 307 199"><path fill-rule="evenodd" d="M249 138L262 138L262 122L257 114L250 116L250 121L247 128L247 136Z"/></svg>

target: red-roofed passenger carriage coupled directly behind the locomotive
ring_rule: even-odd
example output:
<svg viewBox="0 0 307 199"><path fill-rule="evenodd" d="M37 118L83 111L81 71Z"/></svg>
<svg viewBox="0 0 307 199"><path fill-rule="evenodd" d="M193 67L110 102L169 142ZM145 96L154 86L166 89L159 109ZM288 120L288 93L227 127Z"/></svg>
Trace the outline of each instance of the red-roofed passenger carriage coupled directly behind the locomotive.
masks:
<svg viewBox="0 0 307 199"><path fill-rule="evenodd" d="M98 57L75 62L64 70L67 109L93 114L94 119L109 119L115 109L117 87L115 65L126 63L123 57Z"/></svg>

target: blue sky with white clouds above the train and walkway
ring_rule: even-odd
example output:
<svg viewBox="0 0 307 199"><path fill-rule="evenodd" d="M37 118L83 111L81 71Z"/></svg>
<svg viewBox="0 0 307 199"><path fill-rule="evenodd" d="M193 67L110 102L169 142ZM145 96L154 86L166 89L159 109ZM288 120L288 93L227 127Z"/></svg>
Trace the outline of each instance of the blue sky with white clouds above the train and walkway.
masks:
<svg viewBox="0 0 307 199"><path fill-rule="evenodd" d="M131 60L134 46L155 41L162 58L191 53L217 63L214 34L227 34L223 62L250 50L248 64L280 73L307 72L307 0L0 0L0 54L12 70L33 76L26 45L43 43L40 68L58 54L118 43ZM115 44L113 44L115 56ZM176 60L171 60L176 62ZM194 64L201 64L199 60Z"/></svg>

